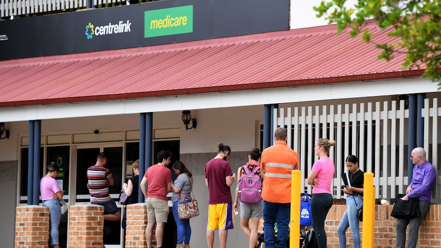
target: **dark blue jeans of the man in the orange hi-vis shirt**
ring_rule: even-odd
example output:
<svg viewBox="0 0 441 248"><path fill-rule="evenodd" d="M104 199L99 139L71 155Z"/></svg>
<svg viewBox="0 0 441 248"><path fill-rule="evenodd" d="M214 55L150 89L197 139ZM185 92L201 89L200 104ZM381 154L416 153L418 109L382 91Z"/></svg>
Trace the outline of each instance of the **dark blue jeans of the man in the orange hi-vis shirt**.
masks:
<svg viewBox="0 0 441 248"><path fill-rule="evenodd" d="M275 247L274 226L277 222L277 248L286 248L291 214L291 203L263 200L263 240L266 248Z"/></svg>

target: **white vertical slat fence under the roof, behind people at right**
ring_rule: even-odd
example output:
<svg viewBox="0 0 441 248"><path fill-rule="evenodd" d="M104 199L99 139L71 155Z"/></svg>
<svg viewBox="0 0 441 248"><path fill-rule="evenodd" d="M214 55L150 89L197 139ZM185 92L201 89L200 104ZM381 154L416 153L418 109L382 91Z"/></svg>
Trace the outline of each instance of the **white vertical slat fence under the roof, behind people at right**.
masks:
<svg viewBox="0 0 441 248"><path fill-rule="evenodd" d="M433 198L440 198L441 173L438 168L438 118L441 107L425 99L424 148L428 160L437 168L437 186ZM320 111L321 110L321 111ZM318 159L314 146L319 138L335 140L329 157L336 165L333 194L343 198L341 173L347 172L345 158L356 155L364 172L374 173L376 198L395 198L407 188L408 118L404 101L374 102L329 106L288 107L275 109L273 128L288 128L288 144L299 153L301 187L311 193L307 175ZM432 145L434 144L434 145ZM429 150L430 149L430 150ZM436 200L435 200L436 201Z"/></svg>

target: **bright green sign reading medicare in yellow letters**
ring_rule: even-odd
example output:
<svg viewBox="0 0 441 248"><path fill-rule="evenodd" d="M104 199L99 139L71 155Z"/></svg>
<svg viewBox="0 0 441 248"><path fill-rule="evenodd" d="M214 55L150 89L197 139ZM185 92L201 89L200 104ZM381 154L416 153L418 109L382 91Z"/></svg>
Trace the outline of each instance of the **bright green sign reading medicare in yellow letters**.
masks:
<svg viewBox="0 0 441 248"><path fill-rule="evenodd" d="M144 11L144 38L193 32L193 5Z"/></svg>

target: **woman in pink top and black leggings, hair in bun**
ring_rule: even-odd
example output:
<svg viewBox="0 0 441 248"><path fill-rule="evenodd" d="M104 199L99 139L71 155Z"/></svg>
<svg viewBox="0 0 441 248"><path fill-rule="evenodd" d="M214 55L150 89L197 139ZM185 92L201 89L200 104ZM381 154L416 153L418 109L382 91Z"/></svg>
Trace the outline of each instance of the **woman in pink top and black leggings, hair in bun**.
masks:
<svg viewBox="0 0 441 248"><path fill-rule="evenodd" d="M325 138L317 140L314 150L320 159L314 163L307 179L307 184L313 186L311 215L319 248L326 248L325 219L334 201L331 183L334 178L335 166L328 157L329 148L334 145L335 141Z"/></svg>

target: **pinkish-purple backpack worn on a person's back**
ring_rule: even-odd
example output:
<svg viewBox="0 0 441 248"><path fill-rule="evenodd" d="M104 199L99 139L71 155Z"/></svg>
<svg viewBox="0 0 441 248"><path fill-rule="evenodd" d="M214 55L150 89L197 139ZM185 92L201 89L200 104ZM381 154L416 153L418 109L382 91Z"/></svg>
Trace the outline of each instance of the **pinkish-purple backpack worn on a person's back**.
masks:
<svg viewBox="0 0 441 248"><path fill-rule="evenodd" d="M262 181L256 171L260 169L256 166L253 171L248 170L248 166L243 166L245 174L240 176L237 193L239 200L246 204L256 204L262 199Z"/></svg>

